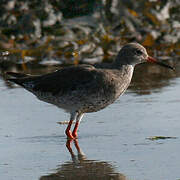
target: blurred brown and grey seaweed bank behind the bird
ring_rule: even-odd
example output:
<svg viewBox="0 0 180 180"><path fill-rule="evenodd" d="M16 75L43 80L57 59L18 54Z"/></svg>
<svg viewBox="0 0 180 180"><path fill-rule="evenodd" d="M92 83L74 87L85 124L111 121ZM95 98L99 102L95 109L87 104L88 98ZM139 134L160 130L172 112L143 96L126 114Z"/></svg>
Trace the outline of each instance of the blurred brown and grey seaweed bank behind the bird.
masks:
<svg viewBox="0 0 180 180"><path fill-rule="evenodd" d="M159 58L180 56L179 0L1 0L0 8L3 69L109 62L132 41Z"/></svg>

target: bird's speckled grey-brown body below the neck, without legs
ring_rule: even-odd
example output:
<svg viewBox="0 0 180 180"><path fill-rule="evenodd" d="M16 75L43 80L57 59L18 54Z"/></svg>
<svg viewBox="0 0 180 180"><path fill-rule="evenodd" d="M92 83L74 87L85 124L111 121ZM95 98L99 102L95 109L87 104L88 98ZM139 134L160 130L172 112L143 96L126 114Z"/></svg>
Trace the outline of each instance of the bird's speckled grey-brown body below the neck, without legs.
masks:
<svg viewBox="0 0 180 180"><path fill-rule="evenodd" d="M99 111L113 103L127 89L132 72L131 65L121 70L82 65L13 81L35 94L38 99L67 112L86 113Z"/></svg>

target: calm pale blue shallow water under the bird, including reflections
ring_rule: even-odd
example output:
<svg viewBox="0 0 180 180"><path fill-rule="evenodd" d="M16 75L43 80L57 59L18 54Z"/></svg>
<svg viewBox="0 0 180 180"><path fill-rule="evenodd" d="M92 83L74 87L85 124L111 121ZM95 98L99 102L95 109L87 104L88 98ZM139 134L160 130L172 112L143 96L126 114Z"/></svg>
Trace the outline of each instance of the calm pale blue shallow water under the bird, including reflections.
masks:
<svg viewBox="0 0 180 180"><path fill-rule="evenodd" d="M116 103L85 115L78 142L68 142L73 153L56 123L69 115L0 80L1 179L180 179L179 72L179 64L176 72L137 67Z"/></svg>

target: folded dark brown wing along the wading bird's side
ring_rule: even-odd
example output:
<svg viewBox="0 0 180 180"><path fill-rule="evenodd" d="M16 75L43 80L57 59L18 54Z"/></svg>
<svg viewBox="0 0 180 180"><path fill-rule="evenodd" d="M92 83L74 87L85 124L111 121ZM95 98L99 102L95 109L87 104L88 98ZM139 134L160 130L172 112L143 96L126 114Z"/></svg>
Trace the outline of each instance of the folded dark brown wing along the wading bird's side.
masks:
<svg viewBox="0 0 180 180"><path fill-rule="evenodd" d="M93 84L94 69L90 65L71 66L38 77L16 79L14 82L30 91L50 92L53 95L64 94Z"/></svg>

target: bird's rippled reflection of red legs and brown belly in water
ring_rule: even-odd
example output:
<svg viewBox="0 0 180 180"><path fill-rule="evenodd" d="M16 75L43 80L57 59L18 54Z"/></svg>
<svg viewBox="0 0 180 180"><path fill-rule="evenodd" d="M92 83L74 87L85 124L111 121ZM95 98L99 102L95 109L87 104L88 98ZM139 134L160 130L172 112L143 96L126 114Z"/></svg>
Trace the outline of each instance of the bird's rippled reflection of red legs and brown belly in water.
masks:
<svg viewBox="0 0 180 180"><path fill-rule="evenodd" d="M72 144L77 150L77 155L72 150ZM67 140L66 147L72 161L60 165L55 173L42 176L40 180L127 180L123 174L115 172L110 163L88 160L77 139Z"/></svg>

